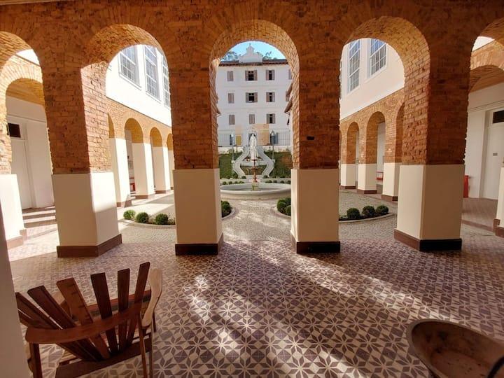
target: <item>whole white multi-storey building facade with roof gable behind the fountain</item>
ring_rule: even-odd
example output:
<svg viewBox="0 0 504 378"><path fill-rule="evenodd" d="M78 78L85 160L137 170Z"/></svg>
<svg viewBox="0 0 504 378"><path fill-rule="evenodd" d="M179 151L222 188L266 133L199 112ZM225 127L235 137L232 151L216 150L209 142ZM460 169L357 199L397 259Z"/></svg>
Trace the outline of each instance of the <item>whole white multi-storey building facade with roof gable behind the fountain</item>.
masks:
<svg viewBox="0 0 504 378"><path fill-rule="evenodd" d="M264 59L251 45L237 61L221 62L216 76L219 147L246 146L252 133L260 145L291 146L285 113L291 82L286 59Z"/></svg>

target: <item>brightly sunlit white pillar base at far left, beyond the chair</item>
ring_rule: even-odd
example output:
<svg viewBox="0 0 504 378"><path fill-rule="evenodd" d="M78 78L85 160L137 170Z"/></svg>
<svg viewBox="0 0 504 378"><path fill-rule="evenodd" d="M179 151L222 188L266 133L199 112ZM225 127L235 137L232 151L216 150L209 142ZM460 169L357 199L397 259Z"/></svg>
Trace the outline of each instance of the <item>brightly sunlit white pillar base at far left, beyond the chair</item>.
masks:
<svg viewBox="0 0 504 378"><path fill-rule="evenodd" d="M26 230L22 218L18 176L15 174L0 174L0 204L8 248L22 245Z"/></svg>

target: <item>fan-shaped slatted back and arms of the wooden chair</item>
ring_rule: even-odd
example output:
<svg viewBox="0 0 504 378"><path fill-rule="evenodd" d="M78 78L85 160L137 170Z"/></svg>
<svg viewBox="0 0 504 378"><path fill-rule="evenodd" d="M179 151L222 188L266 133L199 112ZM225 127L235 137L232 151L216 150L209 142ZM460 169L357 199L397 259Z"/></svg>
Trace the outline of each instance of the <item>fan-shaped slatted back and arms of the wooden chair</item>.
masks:
<svg viewBox="0 0 504 378"><path fill-rule="evenodd" d="M33 352L38 355L38 344L58 344L83 361L107 360L129 349L135 331L142 325L142 303L146 300L146 293L149 300L146 311L149 311L151 319L161 293L160 269L153 269L151 274L155 300L151 299L151 291L146 292L149 268L149 262L140 265L134 295L129 293L130 269L120 270L118 297L115 300L111 300L106 275L92 274L92 288L97 300L92 306L87 305L73 278L56 283L64 297L63 303L57 302L44 286L28 290L28 295L35 304L24 295L16 293L20 321L27 326L26 339L30 343L31 359ZM151 301L154 302L153 306ZM140 331L137 336L144 335ZM33 345L36 345L36 350L33 350ZM38 364L40 365L39 361ZM41 377L41 372L40 375L34 372L34 376Z"/></svg>

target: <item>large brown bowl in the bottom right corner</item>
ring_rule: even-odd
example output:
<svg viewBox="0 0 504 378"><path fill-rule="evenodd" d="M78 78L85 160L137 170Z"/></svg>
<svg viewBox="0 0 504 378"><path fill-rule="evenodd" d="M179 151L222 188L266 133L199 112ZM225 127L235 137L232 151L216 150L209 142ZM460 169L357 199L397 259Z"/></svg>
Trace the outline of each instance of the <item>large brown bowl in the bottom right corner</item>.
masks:
<svg viewBox="0 0 504 378"><path fill-rule="evenodd" d="M504 356L504 344L475 330L436 319L411 323L407 339L414 353L437 378L490 377ZM504 369L491 377L504 377Z"/></svg>

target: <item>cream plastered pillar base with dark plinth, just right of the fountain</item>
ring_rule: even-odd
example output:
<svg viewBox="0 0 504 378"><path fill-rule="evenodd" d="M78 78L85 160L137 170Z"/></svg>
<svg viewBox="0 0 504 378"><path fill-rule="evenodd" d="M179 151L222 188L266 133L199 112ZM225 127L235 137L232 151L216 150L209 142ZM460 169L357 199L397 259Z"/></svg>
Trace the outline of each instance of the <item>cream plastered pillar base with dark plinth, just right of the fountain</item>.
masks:
<svg viewBox="0 0 504 378"><path fill-rule="evenodd" d="M338 252L339 169L291 169L290 177L290 233L297 253Z"/></svg>

